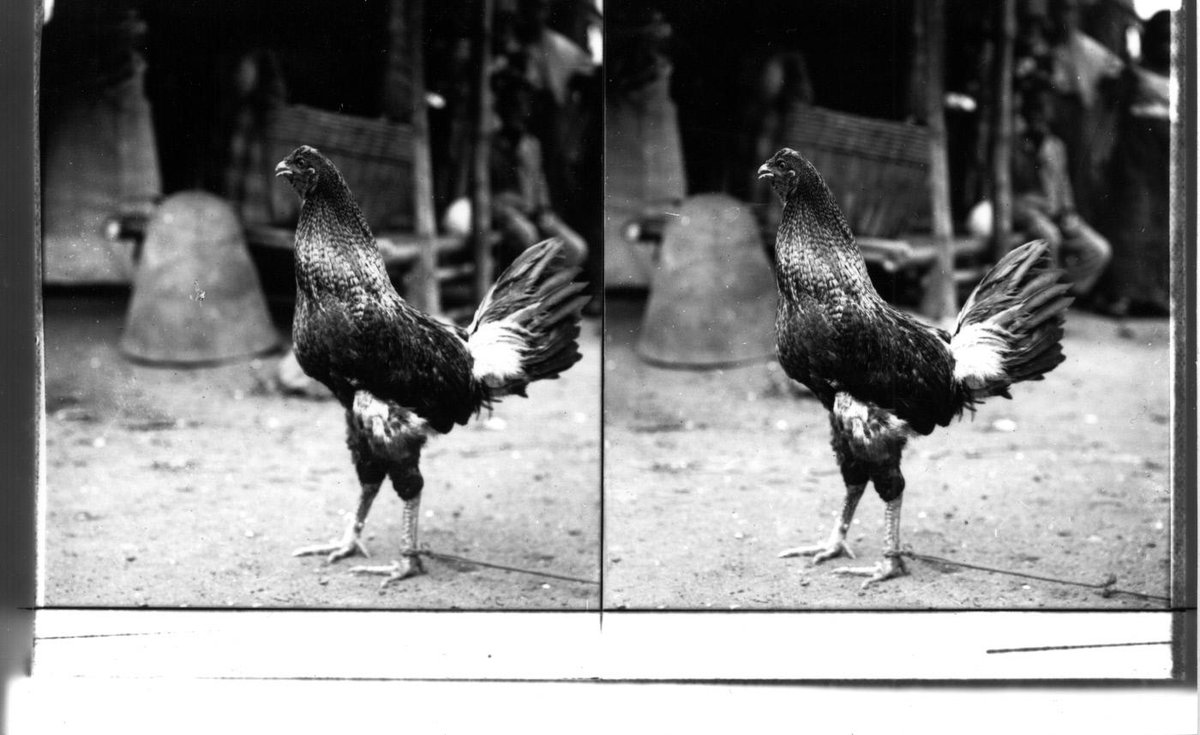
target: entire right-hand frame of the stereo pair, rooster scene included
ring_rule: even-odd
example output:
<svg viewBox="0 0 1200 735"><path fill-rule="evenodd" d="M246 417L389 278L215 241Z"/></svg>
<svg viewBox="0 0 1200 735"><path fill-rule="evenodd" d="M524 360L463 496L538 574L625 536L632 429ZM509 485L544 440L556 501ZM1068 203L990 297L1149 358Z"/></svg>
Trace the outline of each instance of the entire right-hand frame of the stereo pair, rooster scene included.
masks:
<svg viewBox="0 0 1200 735"><path fill-rule="evenodd" d="M988 7L607 8L606 609L1169 606L1170 17Z"/></svg>

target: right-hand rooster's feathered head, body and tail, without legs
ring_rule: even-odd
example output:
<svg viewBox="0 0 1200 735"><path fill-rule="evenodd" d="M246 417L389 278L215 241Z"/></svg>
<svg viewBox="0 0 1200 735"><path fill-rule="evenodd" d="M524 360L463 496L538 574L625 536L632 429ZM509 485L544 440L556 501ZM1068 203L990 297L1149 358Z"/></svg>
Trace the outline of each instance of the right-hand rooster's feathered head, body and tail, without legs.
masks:
<svg viewBox="0 0 1200 735"><path fill-rule="evenodd" d="M952 336L878 295L824 180L785 151L775 157L786 159L776 184L784 192L775 241L776 348L788 376L826 408L833 411L845 393L930 434L979 400L1008 395L1010 384L1038 380L1062 361L1069 286L1045 243L1002 258L967 299Z"/></svg>

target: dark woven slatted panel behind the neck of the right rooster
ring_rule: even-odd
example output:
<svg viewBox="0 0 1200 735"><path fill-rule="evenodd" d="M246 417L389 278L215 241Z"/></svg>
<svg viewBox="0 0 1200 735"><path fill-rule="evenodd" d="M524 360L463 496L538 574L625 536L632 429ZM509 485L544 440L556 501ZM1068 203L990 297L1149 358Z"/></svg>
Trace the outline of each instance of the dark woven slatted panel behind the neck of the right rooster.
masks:
<svg viewBox="0 0 1200 735"><path fill-rule="evenodd" d="M856 234L892 238L928 217L924 127L797 106L782 143L817 167Z"/></svg>

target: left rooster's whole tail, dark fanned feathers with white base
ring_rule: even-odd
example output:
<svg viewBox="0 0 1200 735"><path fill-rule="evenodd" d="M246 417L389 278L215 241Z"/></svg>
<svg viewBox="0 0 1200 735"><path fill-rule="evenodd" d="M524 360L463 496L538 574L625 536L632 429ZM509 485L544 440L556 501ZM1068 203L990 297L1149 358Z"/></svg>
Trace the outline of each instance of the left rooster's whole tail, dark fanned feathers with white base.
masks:
<svg viewBox="0 0 1200 735"><path fill-rule="evenodd" d="M500 274L467 328L475 378L496 395L524 395L580 360L578 268L565 265L560 240L529 247Z"/></svg>

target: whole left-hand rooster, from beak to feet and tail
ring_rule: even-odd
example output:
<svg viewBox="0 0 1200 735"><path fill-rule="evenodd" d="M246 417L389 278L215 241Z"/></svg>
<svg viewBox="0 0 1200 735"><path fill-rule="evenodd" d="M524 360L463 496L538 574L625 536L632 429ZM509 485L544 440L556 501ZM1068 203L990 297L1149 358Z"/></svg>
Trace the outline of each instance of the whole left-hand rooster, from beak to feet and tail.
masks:
<svg viewBox="0 0 1200 735"><path fill-rule="evenodd" d="M577 268L560 243L526 250L497 279L467 329L445 324L392 288L371 229L337 168L301 145L276 166L300 196L296 225L296 360L346 410L347 444L361 486L358 512L332 544L296 556L368 556L362 527L385 478L403 502L400 560L354 567L384 585L424 572L416 546L421 448L505 395L558 377L580 359Z"/></svg>

